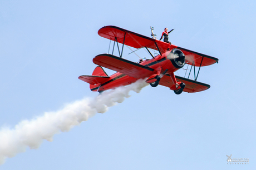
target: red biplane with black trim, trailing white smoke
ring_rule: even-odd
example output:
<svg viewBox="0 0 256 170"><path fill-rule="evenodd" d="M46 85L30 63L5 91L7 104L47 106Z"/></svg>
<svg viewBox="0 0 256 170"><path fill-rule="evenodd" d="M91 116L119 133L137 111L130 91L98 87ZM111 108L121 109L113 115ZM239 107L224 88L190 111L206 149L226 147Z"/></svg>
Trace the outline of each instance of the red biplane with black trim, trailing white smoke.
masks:
<svg viewBox="0 0 256 170"><path fill-rule="evenodd" d="M151 29L154 28L151 27ZM79 77L82 81L90 84L90 89L93 92L101 93L107 89L126 86L140 78L147 78L146 82L150 83L152 87L156 87L158 84L169 87L175 94L180 94L183 91L188 93L201 92L210 88L208 84L200 83L196 79L201 67L218 63L218 58L159 41L153 32L152 38L150 38L119 27L106 26L99 29L98 34L114 41L113 52L116 42L119 57L114 56L112 52L112 54L99 54L93 58L93 63L99 66L95 68L92 76ZM119 48L119 43L122 44L122 49ZM145 48L152 59L145 59L139 63L124 59L122 58L124 45L136 49ZM149 48L158 51L159 54L154 56ZM183 68L185 64L191 66L189 76L192 68L194 68L194 80L190 79L189 76L185 78L174 75L174 72ZM117 73L108 76L102 67L112 69ZM199 67L197 76L195 67ZM187 68L186 71L188 70Z"/></svg>

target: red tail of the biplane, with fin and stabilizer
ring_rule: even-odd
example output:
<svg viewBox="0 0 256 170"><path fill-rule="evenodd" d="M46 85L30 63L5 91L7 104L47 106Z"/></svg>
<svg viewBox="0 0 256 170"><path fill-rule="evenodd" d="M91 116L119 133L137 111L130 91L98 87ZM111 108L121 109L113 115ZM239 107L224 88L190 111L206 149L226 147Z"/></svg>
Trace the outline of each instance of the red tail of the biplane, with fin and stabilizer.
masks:
<svg viewBox="0 0 256 170"><path fill-rule="evenodd" d="M92 72L92 76L80 76L78 78L84 82L89 83L90 89L93 92L97 92L101 84L110 79L110 77L107 76L107 73L104 71L104 69L100 66L97 66L94 69L94 71Z"/></svg>

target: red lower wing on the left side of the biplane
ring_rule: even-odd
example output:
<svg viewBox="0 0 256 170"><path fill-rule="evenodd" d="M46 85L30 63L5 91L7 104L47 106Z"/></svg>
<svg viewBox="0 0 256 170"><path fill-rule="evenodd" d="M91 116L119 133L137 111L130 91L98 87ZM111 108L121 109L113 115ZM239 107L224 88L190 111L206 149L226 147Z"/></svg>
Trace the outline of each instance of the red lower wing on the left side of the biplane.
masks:
<svg viewBox="0 0 256 170"><path fill-rule="evenodd" d="M111 54L100 54L93 58L93 63L134 78L142 78L152 74L154 69L131 62Z"/></svg>

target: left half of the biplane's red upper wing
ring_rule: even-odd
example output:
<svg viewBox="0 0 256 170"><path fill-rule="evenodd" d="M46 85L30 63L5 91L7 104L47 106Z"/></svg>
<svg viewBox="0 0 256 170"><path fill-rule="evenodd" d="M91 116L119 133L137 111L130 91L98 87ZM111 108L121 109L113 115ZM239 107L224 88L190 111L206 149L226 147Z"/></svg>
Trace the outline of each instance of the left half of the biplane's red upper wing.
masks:
<svg viewBox="0 0 256 170"><path fill-rule="evenodd" d="M176 48L177 46L159 41L154 38L146 37L141 34L128 31L116 26L105 26L99 29L98 34L101 37L124 43L127 46L134 48L147 47L155 50L159 50L161 53L165 53L167 49Z"/></svg>

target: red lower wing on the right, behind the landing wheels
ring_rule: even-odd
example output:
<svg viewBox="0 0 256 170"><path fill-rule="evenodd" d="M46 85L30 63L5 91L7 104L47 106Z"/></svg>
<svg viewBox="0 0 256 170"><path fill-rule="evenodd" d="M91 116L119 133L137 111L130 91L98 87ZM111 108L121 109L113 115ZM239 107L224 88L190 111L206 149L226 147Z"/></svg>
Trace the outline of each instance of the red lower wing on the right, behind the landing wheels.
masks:
<svg viewBox="0 0 256 170"><path fill-rule="evenodd" d="M175 77L177 79L177 82L183 82L186 84L186 86L183 90L184 92L195 93L195 92L205 91L206 89L210 88L209 84L196 82L191 79L183 78L183 77L179 77L179 76L175 76ZM171 86L173 86L174 83L171 80L170 75L165 74L165 76L160 79L159 84L170 88Z"/></svg>

